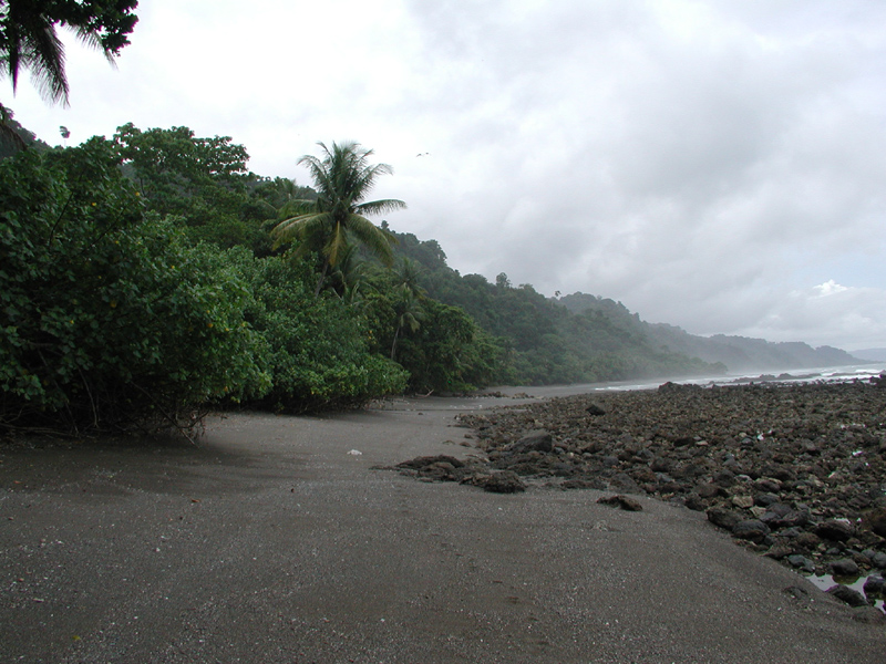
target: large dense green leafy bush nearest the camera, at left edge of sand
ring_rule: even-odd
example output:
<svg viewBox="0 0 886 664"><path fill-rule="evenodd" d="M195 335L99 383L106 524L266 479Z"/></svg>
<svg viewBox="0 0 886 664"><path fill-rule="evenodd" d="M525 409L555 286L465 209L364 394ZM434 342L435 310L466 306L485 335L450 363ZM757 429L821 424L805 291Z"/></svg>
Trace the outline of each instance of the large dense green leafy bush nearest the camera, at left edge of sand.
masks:
<svg viewBox="0 0 886 664"><path fill-rule="evenodd" d="M225 255L145 216L111 144L0 164L0 426L188 427L262 394Z"/></svg>

